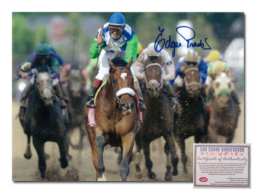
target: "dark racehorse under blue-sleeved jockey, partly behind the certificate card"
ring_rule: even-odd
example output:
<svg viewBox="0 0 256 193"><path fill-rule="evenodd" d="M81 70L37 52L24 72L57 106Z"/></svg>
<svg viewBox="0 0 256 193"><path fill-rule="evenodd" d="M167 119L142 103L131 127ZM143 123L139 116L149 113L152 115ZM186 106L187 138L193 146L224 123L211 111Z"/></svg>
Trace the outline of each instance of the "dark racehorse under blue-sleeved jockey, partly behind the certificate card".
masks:
<svg viewBox="0 0 256 193"><path fill-rule="evenodd" d="M178 93L181 107L180 118L175 122L174 135L181 149L183 171L187 173L187 155L185 154L185 139L194 136L194 142L207 143L208 119L203 99L200 96L201 78L199 64L196 66L184 64L184 83Z"/></svg>

